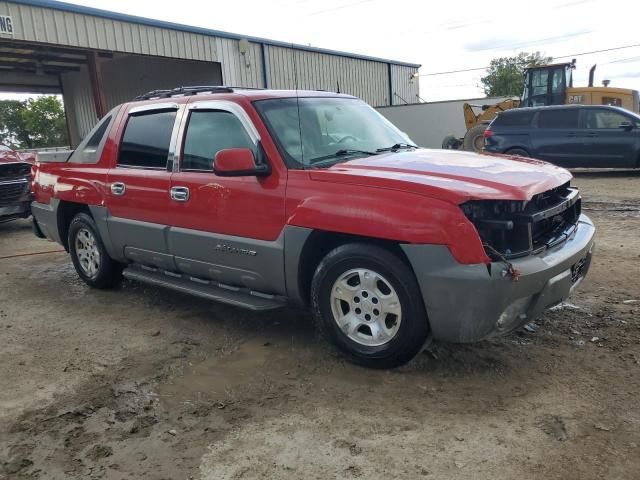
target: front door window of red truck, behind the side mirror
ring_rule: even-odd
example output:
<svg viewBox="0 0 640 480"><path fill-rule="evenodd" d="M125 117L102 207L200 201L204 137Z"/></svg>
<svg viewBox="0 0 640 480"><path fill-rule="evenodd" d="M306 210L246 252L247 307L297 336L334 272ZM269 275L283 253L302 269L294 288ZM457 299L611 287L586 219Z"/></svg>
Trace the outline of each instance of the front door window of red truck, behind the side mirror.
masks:
<svg viewBox="0 0 640 480"><path fill-rule="evenodd" d="M212 171L216 154L227 148L249 148L256 153L255 143L233 113L194 110L187 125L181 170Z"/></svg>

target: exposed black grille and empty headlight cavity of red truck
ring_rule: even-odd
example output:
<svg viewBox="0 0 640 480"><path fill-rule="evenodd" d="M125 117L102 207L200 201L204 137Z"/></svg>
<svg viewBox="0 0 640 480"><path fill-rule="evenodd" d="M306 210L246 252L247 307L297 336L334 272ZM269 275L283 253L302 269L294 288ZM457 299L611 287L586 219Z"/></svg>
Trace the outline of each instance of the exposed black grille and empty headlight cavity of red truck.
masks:
<svg viewBox="0 0 640 480"><path fill-rule="evenodd" d="M472 200L461 205L494 261L535 255L567 240L581 212L577 188L569 182L531 200Z"/></svg>

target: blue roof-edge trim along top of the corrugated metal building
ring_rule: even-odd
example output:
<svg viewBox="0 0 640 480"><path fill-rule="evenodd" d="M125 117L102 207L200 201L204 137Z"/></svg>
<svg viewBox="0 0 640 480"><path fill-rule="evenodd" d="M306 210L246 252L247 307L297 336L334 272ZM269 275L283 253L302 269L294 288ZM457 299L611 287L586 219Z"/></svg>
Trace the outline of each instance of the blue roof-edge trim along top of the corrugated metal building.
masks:
<svg viewBox="0 0 640 480"><path fill-rule="evenodd" d="M167 21L164 21L164 20L154 20L154 19L151 19L151 18L139 17L139 16L136 16L136 15L127 15L127 14L124 14L124 13L111 12L111 11L108 11L108 10L102 10L102 9L93 8L93 7L85 7L83 5L75 5L75 4L67 3L67 2L59 2L59 1L54 1L54 0L7 0L7 1L10 2L10 3L29 5L29 6L32 6L32 7L50 8L50 9L54 9L54 10L61 10L61 11L77 13L77 14L81 14L81 15L91 15L91 16L94 16L94 17L108 18L108 19L111 19L111 20L118 20L118 21L129 22L129 23L137 23L137 24L141 24L141 25L147 25L147 26L150 26L150 27L165 28L165 29L177 30L177 31L181 31L181 32L197 33L197 34L200 34L200 35L208 35L208 36L212 36L212 37L229 38L229 39L232 39L232 40L240 40L240 39L245 38L245 39L249 40L250 42L262 43L262 44L265 44L265 45L273 45L273 46L276 46L276 47L293 48L293 49L303 50L303 51L307 51L307 52L324 53L324 54L327 54L327 55L336 55L336 56L339 56L339 57L354 58L354 59L360 59L360 60L370 60L370 61L374 61L374 62L388 63L388 64L391 64L391 65L400 65L400 66L405 66L405 67L413 67L413 68L420 68L421 67L420 64L416 64L416 63L399 62L397 60L389 60L389 59L385 59L385 58L370 57L370 56L367 56L367 55L359 55L359 54L354 54L354 53L341 52L341 51L330 50L330 49L326 49L326 48L308 47L308 46L305 46L305 45L298 45L298 44L295 44L295 43L281 42L281 41L278 41L278 40L269 40L269 39L266 39L266 38L253 37L253 36L249 36L249 35L239 35L237 33L222 32L220 30L213 30L213 29L202 28L202 27L193 27L193 26L190 26L190 25L167 22Z"/></svg>

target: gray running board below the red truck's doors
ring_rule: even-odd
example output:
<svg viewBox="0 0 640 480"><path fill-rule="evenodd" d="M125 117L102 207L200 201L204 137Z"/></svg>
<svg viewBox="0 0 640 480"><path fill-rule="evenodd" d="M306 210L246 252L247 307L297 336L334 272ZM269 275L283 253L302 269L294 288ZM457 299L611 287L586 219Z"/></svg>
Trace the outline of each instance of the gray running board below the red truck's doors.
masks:
<svg viewBox="0 0 640 480"><path fill-rule="evenodd" d="M194 278L189 275L180 275L175 272L165 272L164 270L141 265L129 265L122 274L129 280L136 280L249 310L273 310L282 308L287 304L283 297L276 295Z"/></svg>

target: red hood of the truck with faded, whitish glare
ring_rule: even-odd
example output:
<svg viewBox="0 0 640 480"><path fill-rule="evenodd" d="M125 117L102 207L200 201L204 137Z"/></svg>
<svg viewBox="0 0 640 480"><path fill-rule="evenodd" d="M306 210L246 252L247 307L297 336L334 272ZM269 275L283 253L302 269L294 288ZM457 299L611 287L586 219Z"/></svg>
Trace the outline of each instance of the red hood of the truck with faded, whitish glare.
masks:
<svg viewBox="0 0 640 480"><path fill-rule="evenodd" d="M571 179L564 168L540 160L456 150L401 151L311 170L320 181L371 185L467 200L529 200Z"/></svg>

